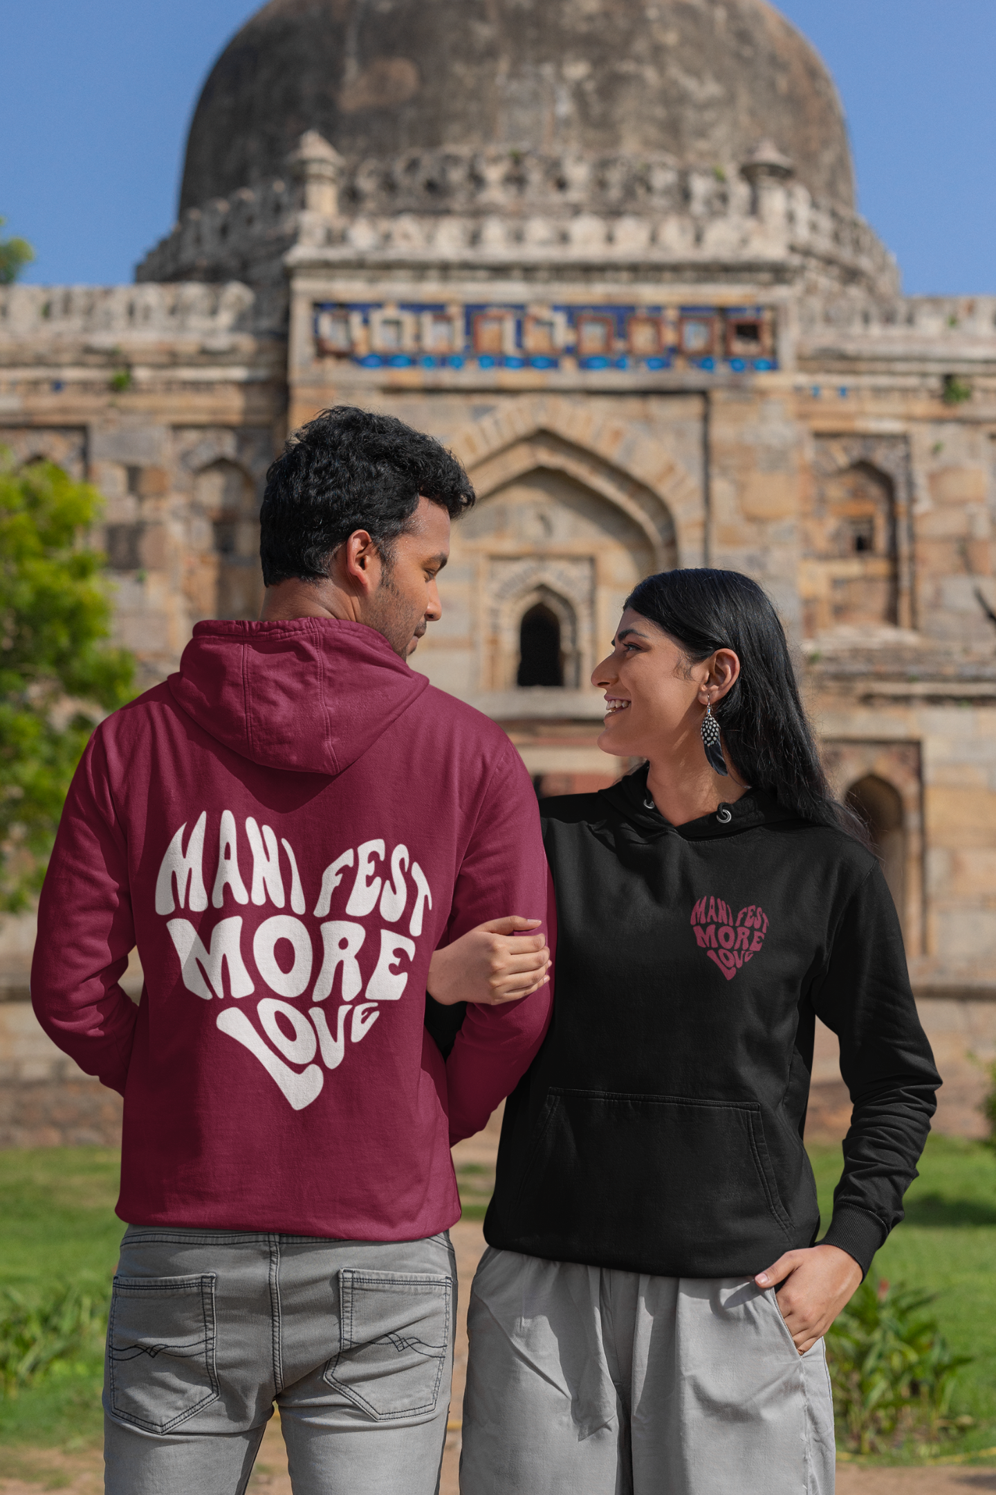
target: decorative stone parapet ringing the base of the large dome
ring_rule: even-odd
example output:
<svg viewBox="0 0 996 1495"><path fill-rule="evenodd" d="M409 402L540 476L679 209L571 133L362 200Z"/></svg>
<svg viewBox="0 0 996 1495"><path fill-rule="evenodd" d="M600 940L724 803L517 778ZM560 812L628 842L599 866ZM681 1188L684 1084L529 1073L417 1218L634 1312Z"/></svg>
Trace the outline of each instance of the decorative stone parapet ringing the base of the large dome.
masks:
<svg viewBox="0 0 996 1495"><path fill-rule="evenodd" d="M869 226L788 176L784 160L703 172L618 152L408 151L346 166L309 132L287 179L190 208L136 275L257 283L290 250L290 265L760 265L896 295L894 259Z"/></svg>

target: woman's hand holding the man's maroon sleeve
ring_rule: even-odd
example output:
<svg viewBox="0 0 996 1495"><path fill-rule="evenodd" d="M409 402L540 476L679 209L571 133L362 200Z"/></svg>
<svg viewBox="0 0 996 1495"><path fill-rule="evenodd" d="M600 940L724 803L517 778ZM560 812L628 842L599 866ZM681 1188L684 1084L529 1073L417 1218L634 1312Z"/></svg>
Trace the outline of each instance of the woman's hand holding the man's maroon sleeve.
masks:
<svg viewBox="0 0 996 1495"><path fill-rule="evenodd" d="M494 1006L538 991L550 981L547 940L515 931L535 930L541 922L517 913L490 919L438 949L429 964L430 997L446 1008L454 1002Z"/></svg>

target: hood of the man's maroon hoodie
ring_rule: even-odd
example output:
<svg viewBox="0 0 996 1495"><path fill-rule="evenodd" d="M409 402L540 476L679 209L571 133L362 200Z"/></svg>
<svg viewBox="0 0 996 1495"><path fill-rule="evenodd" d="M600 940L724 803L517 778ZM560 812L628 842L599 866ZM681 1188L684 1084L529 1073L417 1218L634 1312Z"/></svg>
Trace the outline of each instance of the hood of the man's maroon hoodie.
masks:
<svg viewBox="0 0 996 1495"><path fill-rule="evenodd" d="M429 688L366 623L197 623L173 698L264 768L339 774Z"/></svg>

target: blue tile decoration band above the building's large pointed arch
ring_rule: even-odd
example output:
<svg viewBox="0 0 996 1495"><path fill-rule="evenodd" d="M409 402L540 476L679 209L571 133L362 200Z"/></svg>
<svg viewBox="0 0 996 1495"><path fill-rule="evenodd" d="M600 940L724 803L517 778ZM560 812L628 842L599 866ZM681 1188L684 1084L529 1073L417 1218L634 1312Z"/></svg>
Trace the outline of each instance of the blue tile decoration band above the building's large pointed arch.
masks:
<svg viewBox="0 0 996 1495"><path fill-rule="evenodd" d="M756 330L736 323L753 323ZM765 306L321 302L314 308L318 356L366 369L768 374L778 368L774 333L774 311Z"/></svg>

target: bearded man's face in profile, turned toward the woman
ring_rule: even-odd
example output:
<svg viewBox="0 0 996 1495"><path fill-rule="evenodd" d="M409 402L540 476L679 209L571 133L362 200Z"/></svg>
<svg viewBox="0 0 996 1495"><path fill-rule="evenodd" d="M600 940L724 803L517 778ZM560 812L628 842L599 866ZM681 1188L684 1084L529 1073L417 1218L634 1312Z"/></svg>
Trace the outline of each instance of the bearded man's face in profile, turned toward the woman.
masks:
<svg viewBox="0 0 996 1495"><path fill-rule="evenodd" d="M366 605L364 623L384 634L394 653L406 659L430 622L442 617L436 577L449 559L449 514L427 498L381 565L381 585Z"/></svg>

